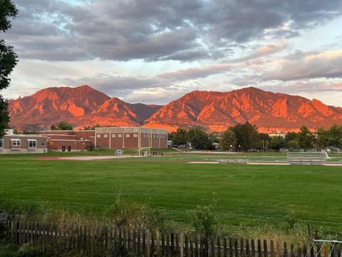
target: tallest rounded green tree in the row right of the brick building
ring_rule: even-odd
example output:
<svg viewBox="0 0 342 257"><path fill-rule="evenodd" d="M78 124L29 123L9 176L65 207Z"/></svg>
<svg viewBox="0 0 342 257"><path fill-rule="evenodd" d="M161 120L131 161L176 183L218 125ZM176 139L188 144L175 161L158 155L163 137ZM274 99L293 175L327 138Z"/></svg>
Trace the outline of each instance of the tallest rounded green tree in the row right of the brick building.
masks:
<svg viewBox="0 0 342 257"><path fill-rule="evenodd" d="M243 149L251 149L257 147L260 136L257 129L257 126L249 124L246 122L245 124L237 124L233 126L232 131L234 131L235 136L237 138L237 145L240 150Z"/></svg>

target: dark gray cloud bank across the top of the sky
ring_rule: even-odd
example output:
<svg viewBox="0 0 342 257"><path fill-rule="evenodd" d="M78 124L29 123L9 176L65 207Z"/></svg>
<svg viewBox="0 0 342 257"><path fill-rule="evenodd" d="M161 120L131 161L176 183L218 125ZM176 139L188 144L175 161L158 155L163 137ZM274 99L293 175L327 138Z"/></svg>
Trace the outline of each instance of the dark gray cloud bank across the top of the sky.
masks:
<svg viewBox="0 0 342 257"><path fill-rule="evenodd" d="M229 46L299 35L341 15L341 1L16 0L19 16L5 35L23 59L218 59ZM288 29L281 29L284 23ZM268 31L267 31L268 30Z"/></svg>

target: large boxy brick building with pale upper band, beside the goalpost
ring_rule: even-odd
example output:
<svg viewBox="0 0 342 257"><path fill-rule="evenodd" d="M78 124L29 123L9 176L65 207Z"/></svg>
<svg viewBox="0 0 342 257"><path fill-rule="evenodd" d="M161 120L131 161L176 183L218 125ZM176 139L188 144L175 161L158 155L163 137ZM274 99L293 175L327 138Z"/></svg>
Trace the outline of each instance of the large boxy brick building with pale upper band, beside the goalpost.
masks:
<svg viewBox="0 0 342 257"><path fill-rule="evenodd" d="M167 130L142 127L95 128L95 148L167 148Z"/></svg>

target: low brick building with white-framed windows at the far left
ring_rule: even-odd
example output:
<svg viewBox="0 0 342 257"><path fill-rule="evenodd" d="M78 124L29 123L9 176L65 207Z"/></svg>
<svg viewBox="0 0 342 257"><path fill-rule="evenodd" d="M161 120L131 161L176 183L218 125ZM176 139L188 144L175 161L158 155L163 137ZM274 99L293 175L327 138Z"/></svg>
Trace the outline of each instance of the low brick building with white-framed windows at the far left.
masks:
<svg viewBox="0 0 342 257"><path fill-rule="evenodd" d="M7 129L5 136L0 138L1 153L47 153L48 138L41 135L15 134Z"/></svg>

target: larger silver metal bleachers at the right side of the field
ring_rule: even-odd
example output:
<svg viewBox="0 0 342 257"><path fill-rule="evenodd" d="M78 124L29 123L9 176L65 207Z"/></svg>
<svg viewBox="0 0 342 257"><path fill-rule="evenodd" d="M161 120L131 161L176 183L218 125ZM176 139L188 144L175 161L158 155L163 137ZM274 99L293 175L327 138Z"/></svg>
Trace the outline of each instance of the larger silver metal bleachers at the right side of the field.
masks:
<svg viewBox="0 0 342 257"><path fill-rule="evenodd" d="M289 152L287 153L287 161L289 164L317 164L326 163L326 153L317 152Z"/></svg>

